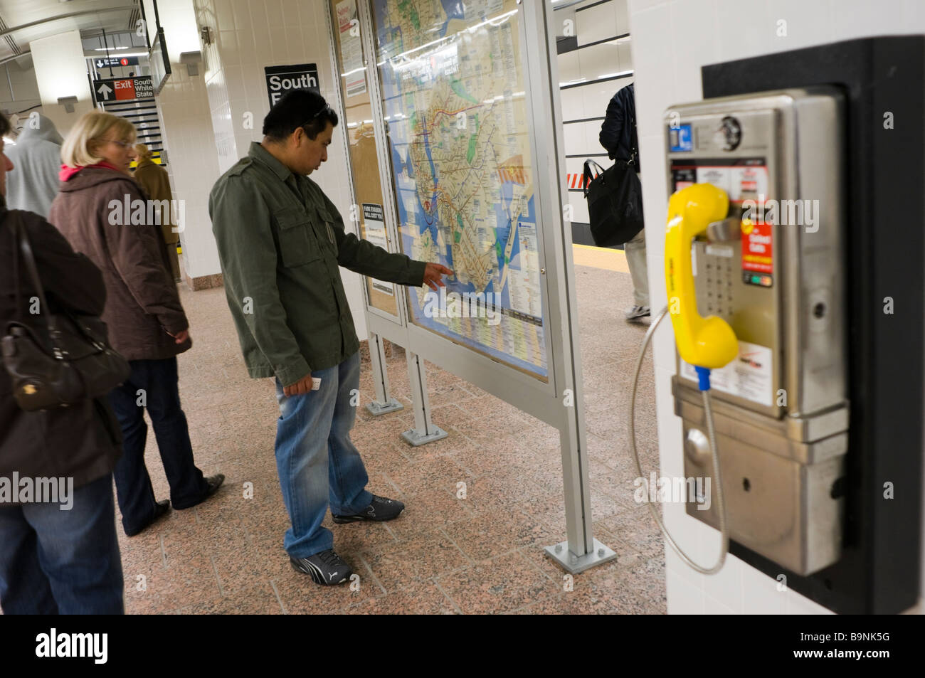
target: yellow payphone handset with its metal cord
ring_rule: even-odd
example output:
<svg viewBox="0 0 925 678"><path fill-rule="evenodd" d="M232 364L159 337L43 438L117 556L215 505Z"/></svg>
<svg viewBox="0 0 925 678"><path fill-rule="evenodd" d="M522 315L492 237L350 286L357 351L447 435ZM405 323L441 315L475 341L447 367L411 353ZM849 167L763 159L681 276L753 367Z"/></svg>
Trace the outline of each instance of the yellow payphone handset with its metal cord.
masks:
<svg viewBox="0 0 925 678"><path fill-rule="evenodd" d="M716 315L703 317L697 313L697 297L694 289L694 271L691 263L691 246L694 239L710 228L722 231L723 222L729 213L729 197L726 191L709 183L693 184L675 191L668 201L668 225L665 230L665 283L668 306L661 309L643 340L642 350L636 360L633 393L630 398L629 433L630 446L640 477L644 477L639 454L635 447L635 391L639 380L639 370L652 335L655 333L665 314L672 316L674 340L678 353L686 363L694 365L697 371L700 391L703 394L704 411L709 434L709 450L713 463L713 477L716 481L716 501L720 513L720 533L722 548L718 561L710 568L698 565L674 541L668 528L661 520L655 505L648 502L652 517L659 524L666 541L675 553L690 567L703 574L715 574L722 570L722 565L729 552L729 528L726 520L726 504L722 494L722 476L720 475L720 457L716 448L716 432L713 429L713 413L709 400L709 371L729 364L738 355L738 341L729 323ZM734 219L737 234L739 220ZM728 225L727 225L728 226ZM728 228L727 228L728 229Z"/></svg>

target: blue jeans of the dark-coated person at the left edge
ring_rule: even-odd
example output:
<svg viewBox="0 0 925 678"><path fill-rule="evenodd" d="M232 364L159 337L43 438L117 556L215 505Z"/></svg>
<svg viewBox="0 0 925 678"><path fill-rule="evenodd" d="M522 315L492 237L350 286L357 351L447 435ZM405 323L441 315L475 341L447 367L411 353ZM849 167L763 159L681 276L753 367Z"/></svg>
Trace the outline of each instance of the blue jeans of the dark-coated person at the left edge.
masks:
<svg viewBox="0 0 925 678"><path fill-rule="evenodd" d="M122 614L112 475L74 489L74 505L0 509L4 614Z"/></svg>

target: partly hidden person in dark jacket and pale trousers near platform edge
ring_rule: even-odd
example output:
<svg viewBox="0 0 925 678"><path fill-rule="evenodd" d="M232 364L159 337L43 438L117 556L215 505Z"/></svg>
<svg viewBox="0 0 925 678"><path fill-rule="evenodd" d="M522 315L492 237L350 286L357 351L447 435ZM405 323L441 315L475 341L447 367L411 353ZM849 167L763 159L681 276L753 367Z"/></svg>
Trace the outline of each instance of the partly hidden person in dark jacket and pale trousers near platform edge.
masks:
<svg viewBox="0 0 925 678"><path fill-rule="evenodd" d="M611 160L633 161L639 173L639 140L635 126L635 83L630 83L613 95L598 137ZM646 229L623 244L626 264L633 278L634 305L624 312L629 321L648 317L648 265L646 262Z"/></svg>

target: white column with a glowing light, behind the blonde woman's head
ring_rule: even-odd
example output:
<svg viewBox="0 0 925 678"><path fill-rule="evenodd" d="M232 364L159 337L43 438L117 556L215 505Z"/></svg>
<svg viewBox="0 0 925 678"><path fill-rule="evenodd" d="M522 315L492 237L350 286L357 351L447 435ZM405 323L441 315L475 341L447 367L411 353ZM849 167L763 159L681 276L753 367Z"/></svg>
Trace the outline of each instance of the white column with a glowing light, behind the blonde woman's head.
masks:
<svg viewBox="0 0 925 678"><path fill-rule="evenodd" d="M43 114L55 123L62 136L67 136L77 119L93 109L80 31L33 40L29 47ZM65 96L77 97L73 113L68 113L64 105L57 103L59 97Z"/></svg>

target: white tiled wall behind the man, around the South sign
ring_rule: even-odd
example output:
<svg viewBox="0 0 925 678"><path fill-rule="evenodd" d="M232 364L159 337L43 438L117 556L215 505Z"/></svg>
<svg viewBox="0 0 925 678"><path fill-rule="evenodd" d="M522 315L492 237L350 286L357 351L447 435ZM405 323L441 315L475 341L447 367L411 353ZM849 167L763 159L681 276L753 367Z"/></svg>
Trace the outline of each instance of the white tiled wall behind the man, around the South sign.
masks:
<svg viewBox="0 0 925 678"><path fill-rule="evenodd" d="M264 68L314 63L322 95L336 102L336 80L331 72L325 6L321 0L196 0L199 28L213 33L203 44L208 115L215 134L218 169L224 172L246 155L251 142L263 135L263 119L270 105ZM341 215L350 214L350 190L342 136L335 133L328 160L312 175ZM217 177L216 177L217 178ZM215 179L212 179L213 182ZM351 228L349 220L346 221ZM360 278L341 269L348 301L360 339L366 335Z"/></svg>

